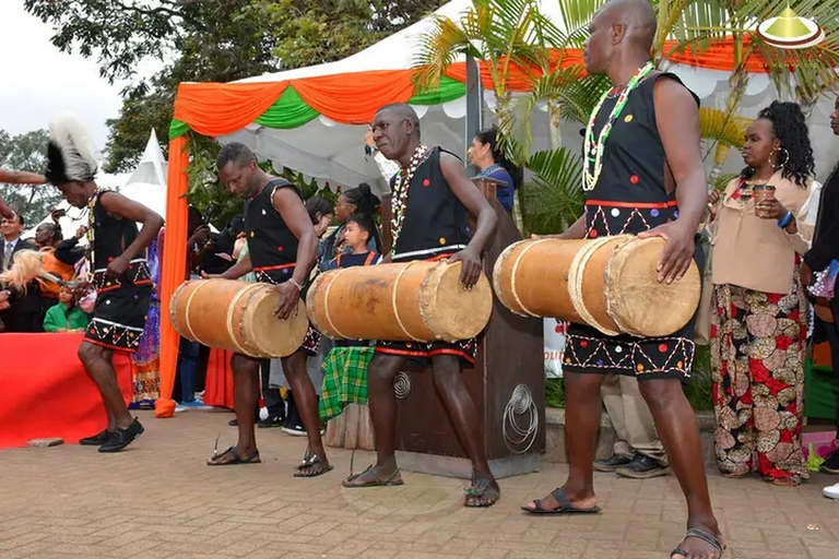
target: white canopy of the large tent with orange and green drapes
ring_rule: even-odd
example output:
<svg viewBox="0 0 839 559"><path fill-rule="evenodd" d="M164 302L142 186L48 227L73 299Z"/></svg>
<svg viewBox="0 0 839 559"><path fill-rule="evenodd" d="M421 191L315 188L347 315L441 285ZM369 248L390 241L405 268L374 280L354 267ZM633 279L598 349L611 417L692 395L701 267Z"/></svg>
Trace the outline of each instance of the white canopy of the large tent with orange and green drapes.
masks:
<svg viewBox="0 0 839 559"><path fill-rule="evenodd" d="M558 9L554 2L540 2L546 15L562 25ZM458 21L458 16L471 5L470 0L454 0L437 14ZM300 68L284 72L249 78L243 82L279 82L300 78L331 75L373 70L409 69L418 45L418 38L432 27L430 19L395 33L344 60L326 64ZM671 64L670 71L677 74L693 90L706 107L723 107L730 86L730 72ZM353 79L347 76L347 79ZM292 83L292 86L294 83ZM492 110L495 99L485 93L486 106ZM777 98L777 92L766 74L753 74L741 105L741 112L754 117L757 111ZM421 118L423 139L426 143L441 145L458 154L465 154L466 99L461 97L437 106L415 106ZM831 142L828 115L832 110L832 98L823 98L813 111L810 122L812 140L816 151L816 173L824 177L839 153L837 142ZM487 115L485 121L492 120ZM563 138L570 148L579 146L578 123L564 123ZM332 188L342 185L353 187L358 182L370 182L379 193L387 190L375 162L364 155L365 124L339 124L323 116L292 130L276 130L250 124L245 129L220 138L222 143L238 141L250 146L260 158L270 158L294 168L321 183L330 181ZM535 118L533 122L534 145L550 146L547 118ZM471 140L471 139L469 139ZM712 153L711 153L712 155ZM732 152L725 171L735 173L742 166L740 155Z"/></svg>

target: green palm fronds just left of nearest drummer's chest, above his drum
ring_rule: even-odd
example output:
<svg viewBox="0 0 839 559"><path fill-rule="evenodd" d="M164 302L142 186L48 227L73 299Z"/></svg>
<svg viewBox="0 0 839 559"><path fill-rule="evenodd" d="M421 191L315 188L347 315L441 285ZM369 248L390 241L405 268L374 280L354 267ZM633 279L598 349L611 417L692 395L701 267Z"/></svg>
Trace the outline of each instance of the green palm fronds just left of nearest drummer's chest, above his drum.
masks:
<svg viewBox="0 0 839 559"><path fill-rule="evenodd" d="M533 154L525 167L531 180L520 191L525 229L535 234L565 230L580 215L582 159L566 147Z"/></svg>

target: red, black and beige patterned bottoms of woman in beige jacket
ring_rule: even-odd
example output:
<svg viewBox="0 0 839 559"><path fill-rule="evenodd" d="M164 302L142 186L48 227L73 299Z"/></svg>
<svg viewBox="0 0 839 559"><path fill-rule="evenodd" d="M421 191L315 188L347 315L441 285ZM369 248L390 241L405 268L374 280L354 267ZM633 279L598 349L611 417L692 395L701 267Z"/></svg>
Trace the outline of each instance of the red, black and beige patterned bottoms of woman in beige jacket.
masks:
<svg viewBox="0 0 839 559"><path fill-rule="evenodd" d="M711 319L717 464L725 475L807 477L801 447L807 302L790 295L714 286Z"/></svg>

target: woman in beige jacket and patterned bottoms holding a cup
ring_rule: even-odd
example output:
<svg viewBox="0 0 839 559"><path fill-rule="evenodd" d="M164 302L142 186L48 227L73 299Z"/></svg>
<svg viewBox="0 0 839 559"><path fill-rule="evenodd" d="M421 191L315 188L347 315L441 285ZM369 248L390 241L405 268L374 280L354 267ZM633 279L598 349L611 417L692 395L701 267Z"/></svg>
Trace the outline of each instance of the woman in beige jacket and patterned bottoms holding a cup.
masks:
<svg viewBox="0 0 839 559"><path fill-rule="evenodd" d="M797 104L775 102L760 111L746 131L743 160L747 167L713 209L717 462L730 477L757 472L794 486L807 477L801 449L807 301L799 264L812 238L796 216L814 168Z"/></svg>

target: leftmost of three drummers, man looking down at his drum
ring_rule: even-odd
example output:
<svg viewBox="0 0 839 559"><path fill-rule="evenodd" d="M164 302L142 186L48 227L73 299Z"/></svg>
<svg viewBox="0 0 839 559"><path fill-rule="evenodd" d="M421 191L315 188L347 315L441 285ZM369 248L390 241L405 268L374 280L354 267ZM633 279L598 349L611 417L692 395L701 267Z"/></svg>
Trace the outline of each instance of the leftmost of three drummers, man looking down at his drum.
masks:
<svg viewBox="0 0 839 559"><path fill-rule="evenodd" d="M300 191L291 182L260 169L253 152L238 142L222 147L216 164L218 177L227 191L246 200L245 234L248 239L248 254L221 277L236 280L252 270L257 282L277 285L280 305L275 313L277 319L284 320L297 312L304 284L315 265L318 246L318 237ZM282 359L309 439L295 477L315 477L332 469L320 438L318 396L306 372L306 358L317 354L319 340L320 334L309 326L299 349ZM231 358L239 440L235 447L210 459L208 465L261 462L253 432L260 362L260 359L243 354L234 354Z"/></svg>

